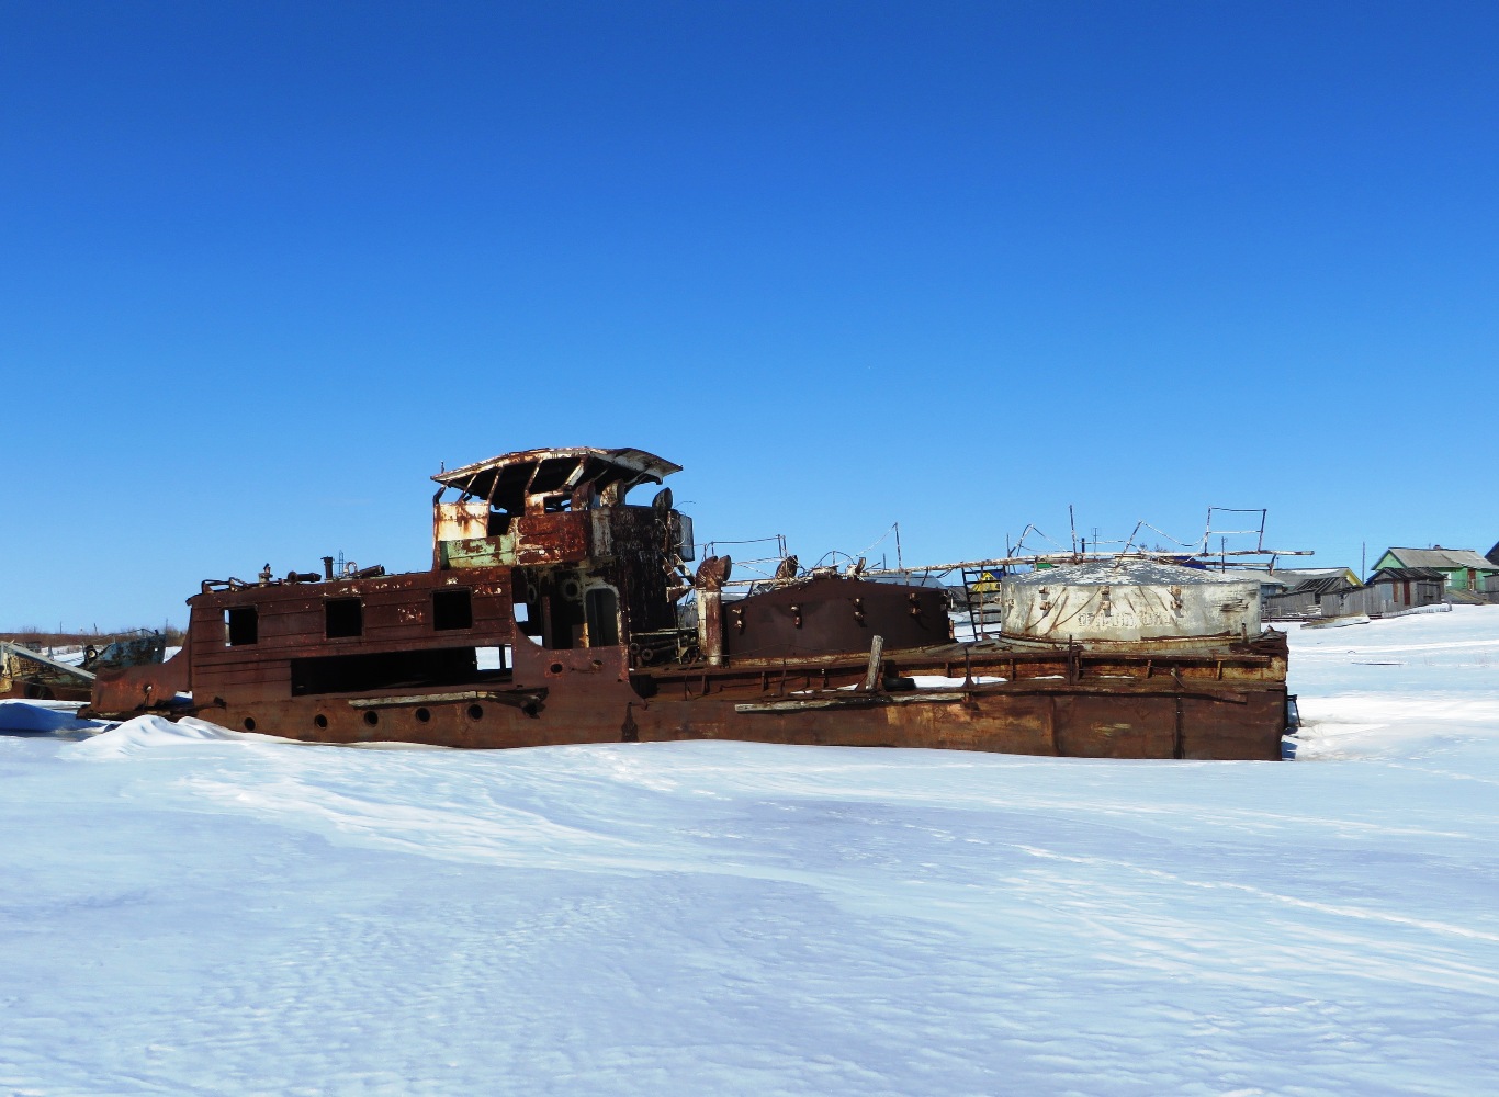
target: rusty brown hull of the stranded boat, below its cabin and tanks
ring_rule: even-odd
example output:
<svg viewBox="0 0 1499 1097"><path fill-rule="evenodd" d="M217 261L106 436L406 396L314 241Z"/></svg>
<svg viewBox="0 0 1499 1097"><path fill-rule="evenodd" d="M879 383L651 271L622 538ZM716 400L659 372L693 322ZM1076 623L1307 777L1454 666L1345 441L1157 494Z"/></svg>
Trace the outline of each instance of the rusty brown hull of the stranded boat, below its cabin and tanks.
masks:
<svg viewBox="0 0 1499 1097"><path fill-rule="evenodd" d="M949 644L892 653L881 686L865 691L866 667L851 658L642 674L630 670L624 649L553 652L522 643L505 680L315 697L252 686L199 697L196 712L232 728L331 743L735 739L1273 761L1285 731L1283 653L1276 635L1171 653ZM160 682L171 664L154 670ZM1007 679L980 680L995 673ZM944 683L913 688L913 676Z"/></svg>

